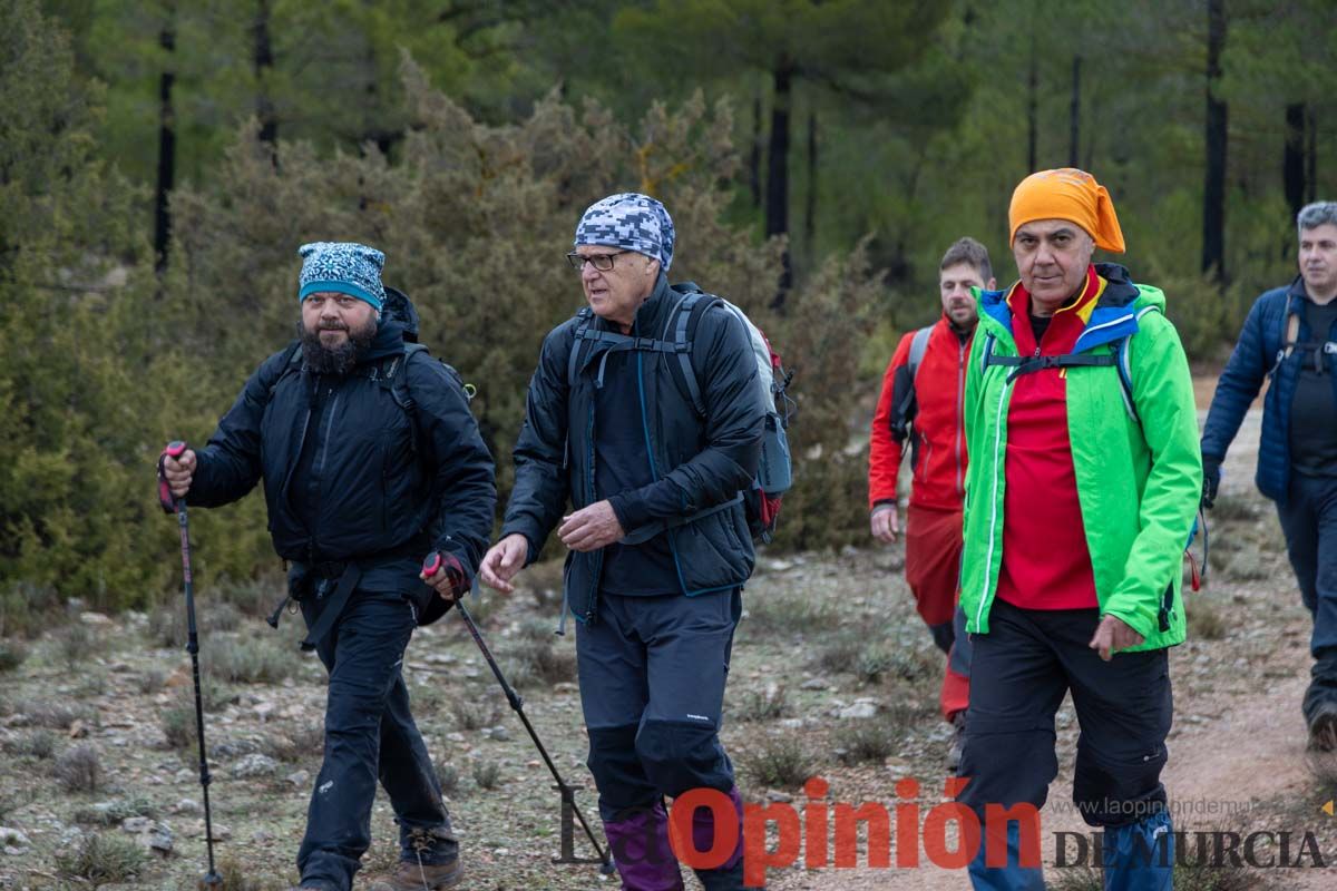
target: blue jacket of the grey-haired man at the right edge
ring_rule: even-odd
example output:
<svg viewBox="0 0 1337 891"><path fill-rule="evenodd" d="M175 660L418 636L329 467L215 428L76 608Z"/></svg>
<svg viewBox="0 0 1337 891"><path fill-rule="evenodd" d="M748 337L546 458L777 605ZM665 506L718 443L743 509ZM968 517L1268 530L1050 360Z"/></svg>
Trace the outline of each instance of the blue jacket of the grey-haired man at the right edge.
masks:
<svg viewBox="0 0 1337 891"><path fill-rule="evenodd" d="M1265 496L1278 504L1286 504L1286 489L1290 482L1290 402L1296 395L1296 379L1300 363L1313 354L1304 350L1292 351L1282 359L1286 341L1286 321L1292 314L1300 317L1300 343L1314 339L1328 339L1329 331L1313 337L1305 318L1305 283L1298 275L1289 287L1277 287L1259 297L1249 318L1239 331L1230 361L1226 363L1217 393L1211 397L1211 409L1202 431L1202 457L1205 461L1221 462L1226 449L1235 438L1239 423L1249 406L1258 397L1263 379L1270 378L1267 395L1263 398L1262 435L1258 442L1258 472L1255 481ZM1337 355L1326 354L1328 370L1337 374ZM1334 406L1337 406L1337 379L1334 379Z"/></svg>

